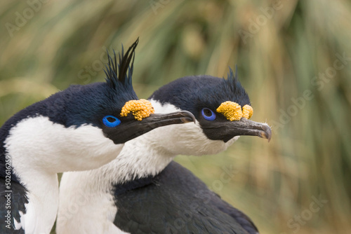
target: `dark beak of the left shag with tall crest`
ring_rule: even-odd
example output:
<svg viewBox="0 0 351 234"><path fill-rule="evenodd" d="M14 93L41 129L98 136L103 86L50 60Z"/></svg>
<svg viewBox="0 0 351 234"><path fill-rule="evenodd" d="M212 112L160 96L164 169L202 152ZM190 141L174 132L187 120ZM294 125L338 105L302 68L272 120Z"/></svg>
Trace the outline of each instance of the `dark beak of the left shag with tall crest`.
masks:
<svg viewBox="0 0 351 234"><path fill-rule="evenodd" d="M128 117L126 117L128 118ZM152 113L149 117L143 118L142 121L136 121L130 118L115 128L105 129L105 135L112 139L114 144L123 144L135 137L139 137L146 132L155 128L166 125L196 122L195 117L189 111L177 111L173 113Z"/></svg>

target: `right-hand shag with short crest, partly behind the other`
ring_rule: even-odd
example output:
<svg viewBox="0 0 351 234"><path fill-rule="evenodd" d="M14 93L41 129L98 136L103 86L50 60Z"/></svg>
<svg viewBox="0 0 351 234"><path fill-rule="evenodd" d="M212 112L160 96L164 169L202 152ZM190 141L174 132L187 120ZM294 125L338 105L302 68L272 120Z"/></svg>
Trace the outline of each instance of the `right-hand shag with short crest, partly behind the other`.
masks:
<svg viewBox="0 0 351 234"><path fill-rule="evenodd" d="M197 121L126 142L117 158L97 170L64 173L57 233L258 233L249 217L172 161L178 154L224 151L240 135L270 139L267 124L247 119L250 101L237 76L230 70L227 79L179 78L149 100L156 113L190 111Z"/></svg>

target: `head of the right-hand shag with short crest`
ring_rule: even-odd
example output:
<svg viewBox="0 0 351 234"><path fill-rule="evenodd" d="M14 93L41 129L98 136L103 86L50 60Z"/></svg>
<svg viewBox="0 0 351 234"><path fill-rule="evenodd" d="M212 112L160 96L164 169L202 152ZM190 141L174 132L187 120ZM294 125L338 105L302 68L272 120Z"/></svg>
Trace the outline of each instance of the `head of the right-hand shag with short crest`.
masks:
<svg viewBox="0 0 351 234"><path fill-rule="evenodd" d="M187 76L162 86L150 97L157 113L190 111L197 123L168 126L171 139L166 148L172 153L202 155L227 149L241 135L270 140L265 123L249 120L253 109L249 95L232 69L225 78ZM161 128L157 132L165 132ZM168 137L168 138L169 138Z"/></svg>

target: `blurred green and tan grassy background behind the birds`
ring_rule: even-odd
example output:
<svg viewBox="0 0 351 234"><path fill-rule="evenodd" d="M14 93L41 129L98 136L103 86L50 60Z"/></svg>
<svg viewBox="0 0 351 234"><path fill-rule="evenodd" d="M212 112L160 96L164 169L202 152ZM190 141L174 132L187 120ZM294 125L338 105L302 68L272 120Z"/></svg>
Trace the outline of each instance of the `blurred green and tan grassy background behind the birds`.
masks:
<svg viewBox="0 0 351 234"><path fill-rule="evenodd" d="M72 83L103 81L106 49L138 36L140 98L237 64L271 142L241 137L176 160L260 233L351 233L350 1L1 1L0 20L0 125Z"/></svg>

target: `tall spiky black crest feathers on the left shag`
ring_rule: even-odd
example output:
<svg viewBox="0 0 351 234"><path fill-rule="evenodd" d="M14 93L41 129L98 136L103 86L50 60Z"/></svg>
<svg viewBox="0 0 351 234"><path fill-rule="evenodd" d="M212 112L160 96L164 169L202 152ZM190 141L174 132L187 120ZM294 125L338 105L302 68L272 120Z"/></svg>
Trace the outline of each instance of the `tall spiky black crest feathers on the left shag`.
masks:
<svg viewBox="0 0 351 234"><path fill-rule="evenodd" d="M109 63L104 69L106 74L106 82L111 88L116 89L119 83L126 86L131 86L131 76L133 74L133 64L135 57L135 48L138 46L139 38L128 48L126 53L124 53L124 48L122 45L122 53L119 53L119 62L117 64L117 56L114 53L114 57L110 56L107 51L107 57ZM133 59L133 60L132 60Z"/></svg>

